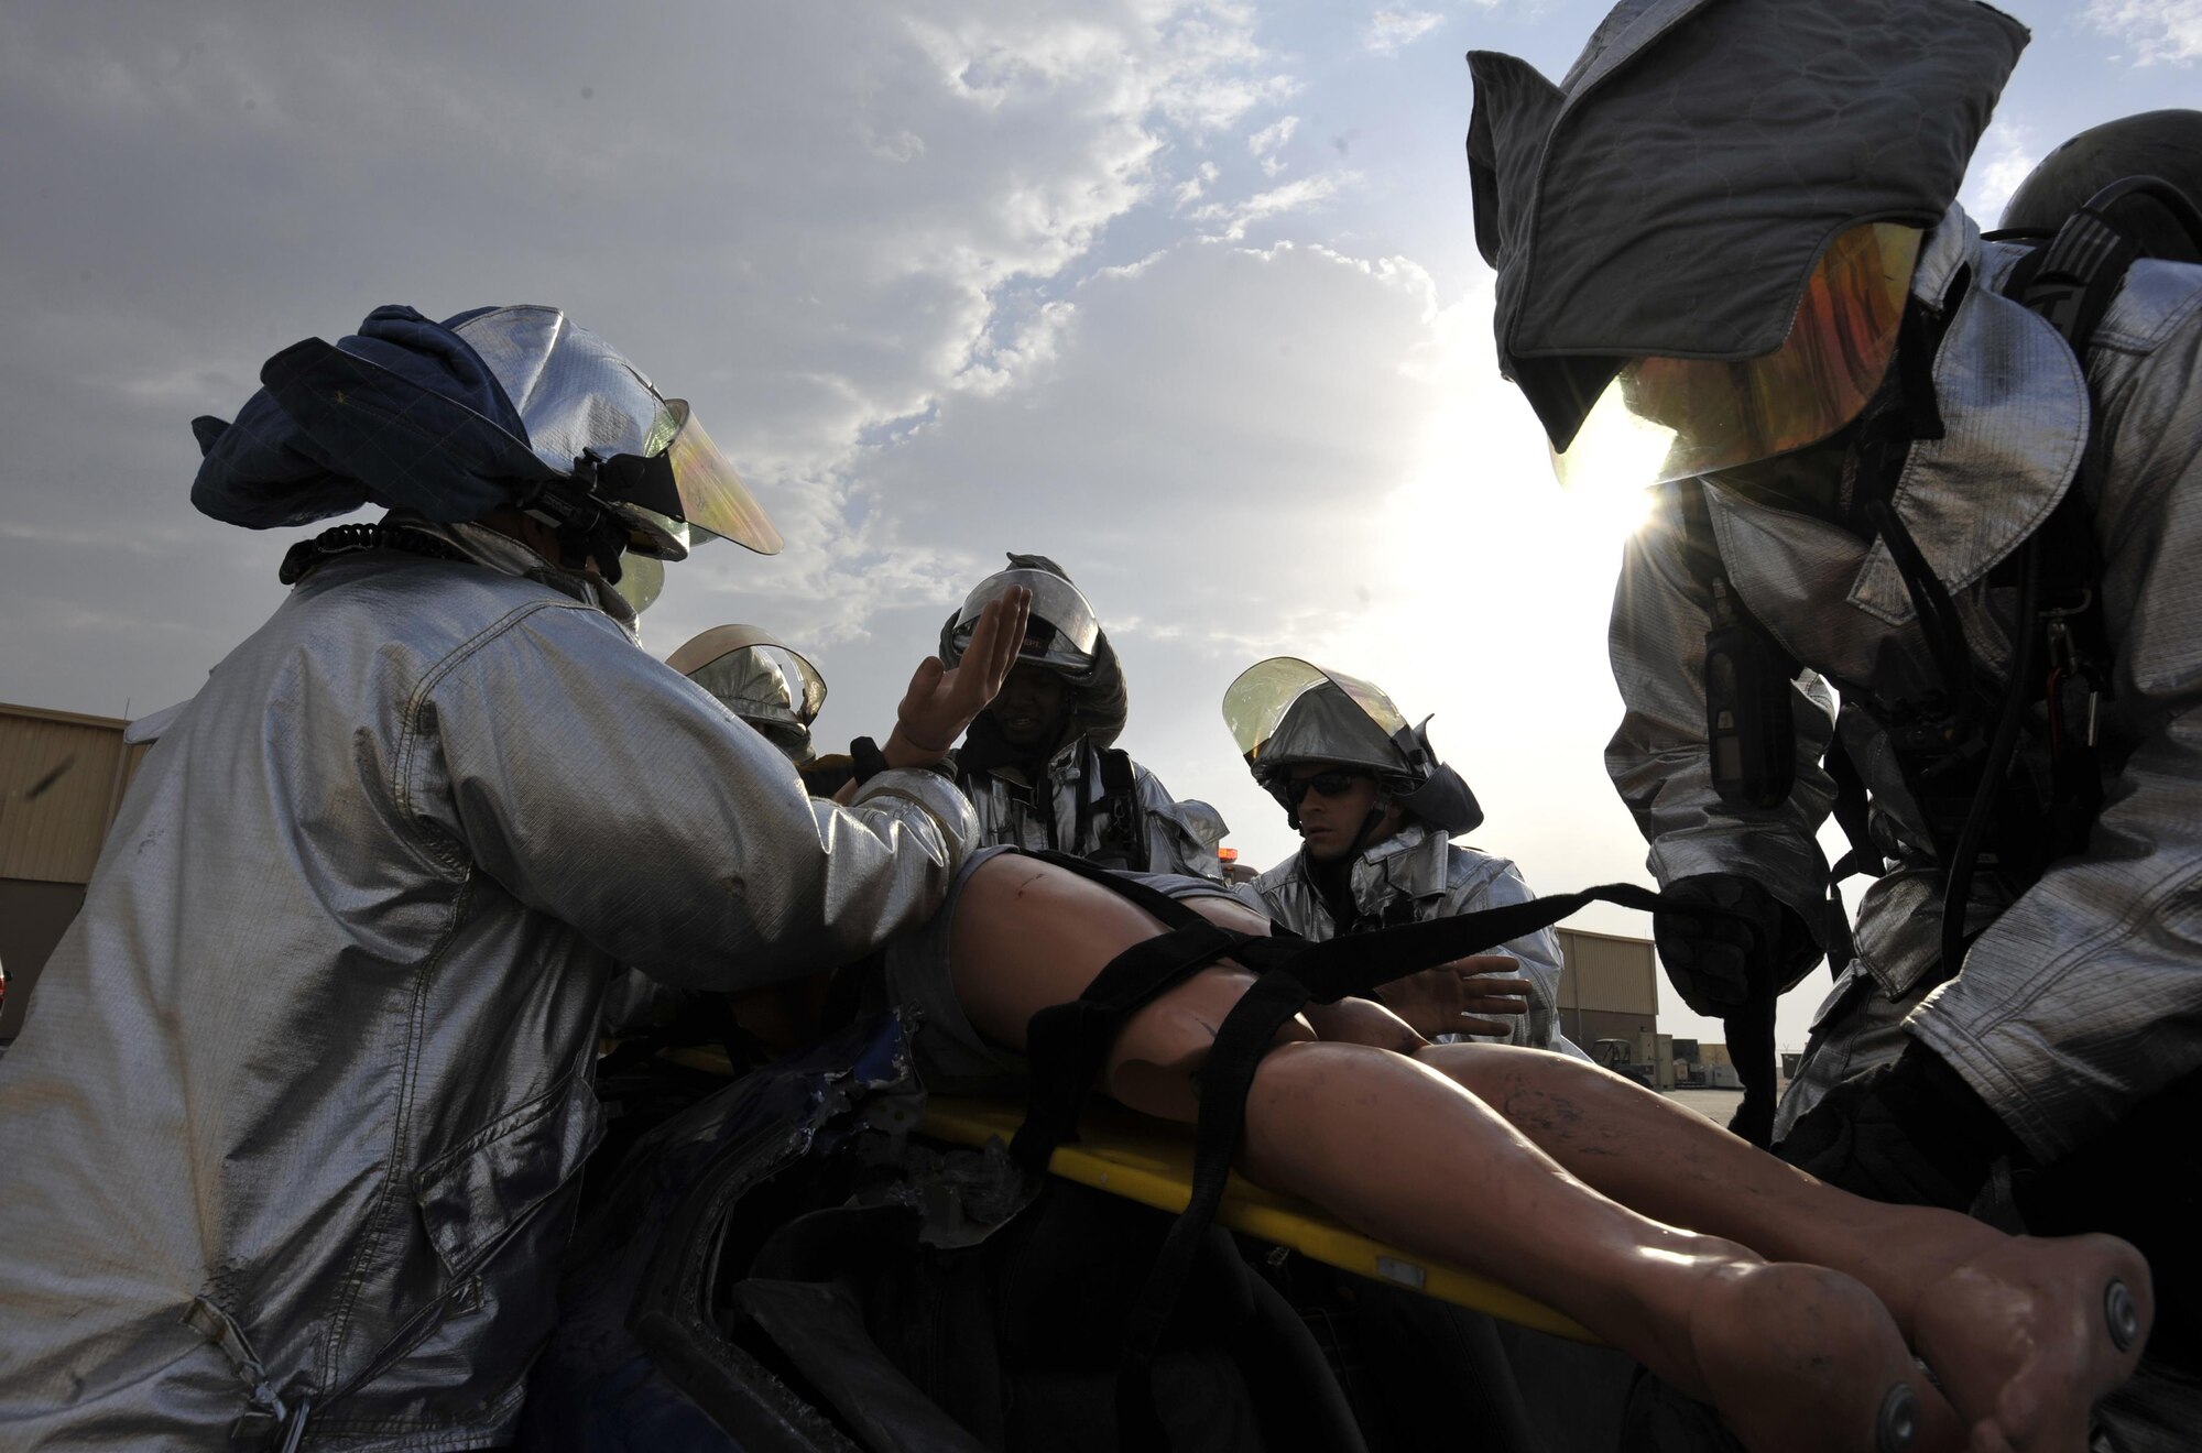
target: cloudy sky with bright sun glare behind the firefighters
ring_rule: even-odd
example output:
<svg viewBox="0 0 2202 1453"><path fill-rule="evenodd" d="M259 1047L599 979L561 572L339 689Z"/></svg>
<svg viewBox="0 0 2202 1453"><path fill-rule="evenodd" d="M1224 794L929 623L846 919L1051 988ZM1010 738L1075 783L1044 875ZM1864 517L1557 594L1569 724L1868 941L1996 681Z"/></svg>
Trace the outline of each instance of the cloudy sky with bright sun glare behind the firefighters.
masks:
<svg viewBox="0 0 2202 1453"><path fill-rule="evenodd" d="M2015 9L1982 216L2202 59L2202 0ZM1533 885L1643 878L1599 764L1627 511L1559 491L1493 370L1462 165L1462 53L1557 77L1601 11L0 0L0 700L143 715L273 610L299 533L187 502L189 418L271 352L548 302L788 539L672 570L654 652L760 623L826 671L824 740L883 735L942 614L1039 550L1119 643L1123 744L1249 861L1295 839L1218 700L1293 652L1434 711Z"/></svg>

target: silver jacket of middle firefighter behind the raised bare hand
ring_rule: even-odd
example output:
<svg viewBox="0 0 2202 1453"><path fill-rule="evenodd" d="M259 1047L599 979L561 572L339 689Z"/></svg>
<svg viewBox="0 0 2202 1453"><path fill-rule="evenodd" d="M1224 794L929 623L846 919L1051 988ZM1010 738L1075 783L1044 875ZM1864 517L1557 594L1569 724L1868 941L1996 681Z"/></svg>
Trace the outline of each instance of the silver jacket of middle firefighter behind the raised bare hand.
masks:
<svg viewBox="0 0 2202 1453"><path fill-rule="evenodd" d="M1145 872L1180 872L1222 883L1224 870L1216 854L1227 832L1222 815L1200 799L1178 801L1138 762L1132 764L1132 779L1147 843ZM962 784L978 815L980 843L989 848L1053 848L1075 856L1101 852L1108 788L1101 782L1101 753L1090 738L1079 735L1059 746L1035 784L1026 784L1017 768L964 773Z"/></svg>

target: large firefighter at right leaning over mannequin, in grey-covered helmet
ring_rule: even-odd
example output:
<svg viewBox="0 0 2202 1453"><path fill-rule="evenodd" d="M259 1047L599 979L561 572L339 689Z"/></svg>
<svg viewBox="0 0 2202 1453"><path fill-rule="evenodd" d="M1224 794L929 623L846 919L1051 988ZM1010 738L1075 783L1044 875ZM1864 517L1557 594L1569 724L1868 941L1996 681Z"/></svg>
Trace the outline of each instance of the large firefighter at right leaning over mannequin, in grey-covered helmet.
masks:
<svg viewBox="0 0 2202 1453"><path fill-rule="evenodd" d="M2180 1446L2202 269L2147 255L2118 187L2048 244L1955 205L2024 44L1960 0L1632 0L1559 86L1471 57L1475 229L1561 478L1660 487L1605 764L1682 900L1669 975L1733 1041L1832 955L1755 1129L1869 1195L2140 1244L2123 1433Z"/></svg>

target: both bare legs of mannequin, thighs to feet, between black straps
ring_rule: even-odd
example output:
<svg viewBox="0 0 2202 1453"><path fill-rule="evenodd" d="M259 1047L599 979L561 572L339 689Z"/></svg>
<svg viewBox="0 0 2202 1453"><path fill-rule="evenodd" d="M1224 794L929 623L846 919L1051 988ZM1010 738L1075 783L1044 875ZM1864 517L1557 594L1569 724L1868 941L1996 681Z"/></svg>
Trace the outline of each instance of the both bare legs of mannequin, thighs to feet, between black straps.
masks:
<svg viewBox="0 0 2202 1453"><path fill-rule="evenodd" d="M1191 905L1260 931L1262 920L1235 905ZM1101 964L1154 931L1145 911L1103 887L1028 859L998 859L964 887L953 925L956 993L982 1035L1017 1048L1033 1013L1077 997ZM1211 969L1143 1008L1125 1026L1103 1088L1136 1110L1193 1118L1198 1068L1246 982L1244 971ZM1249 1176L1557 1305L1715 1402L1755 1449L1872 1449L1874 1420L1898 1383L1911 1383L1922 1413L1914 1446L1964 1442L1949 1405L1916 1376L1887 1305L1900 1308L1936 1354L1940 1376L1962 1394L1966 1422L1991 1424L1977 1429L1977 1449L2002 1449L2006 1438L2017 1449L2076 1449L2063 1427L2072 1418L2083 1427L2094 1396L2129 1369L2061 1352L2103 1343L2103 1279L2087 1283L2094 1305L2076 1308L2070 1277L2043 1277L2035 1255L2057 1244L2013 1242L1962 1217L1828 1191L1596 1070L1568 1066L1574 1083L1539 1063L1502 1061L1486 1072L1473 1052L1495 1046L1425 1050L1431 1063L1416 1063L1370 1044L1319 1044L1304 1022L1282 1037L1295 1044L1264 1061L1246 1103ZM1513 1057L1563 1063L1537 1052ZM1486 1081L1495 1099L1480 1099L1469 1081ZM1526 1134L1493 1110L1506 1105L1508 1092L1530 1121ZM1530 1103L1537 1096L1541 1110ZM1640 1147L1601 1156L1612 1147L1594 1129L1555 1129L1568 1112L1583 1121L1610 1114L1627 1127L1618 1134ZM1539 1129L1559 1147L1557 1160L1533 1143ZM1594 1178L1605 1178L1616 1198L1594 1189ZM1638 1195L1645 1213L1623 1204ZM1746 1209L1722 1211L1731 1202ZM1790 1224L1823 1213L1830 1228ZM1733 1231L1707 1233L1724 1220ZM1797 1259L1768 1264L1753 1237L1759 1250ZM1905 1237L1927 1248L1911 1257L1887 1246ZM2079 1270L2101 1268L2099 1248ZM2026 1286L2028 1277L2039 1286ZM1933 1299L1922 1301L1936 1283L1944 1283L1936 1297L1973 1310L1942 1317ZM2129 1286L2145 1294L2145 1283L2136 1259ZM1997 1319L1982 1325L1991 1303ZM2026 1345L2037 1356L2024 1356Z"/></svg>

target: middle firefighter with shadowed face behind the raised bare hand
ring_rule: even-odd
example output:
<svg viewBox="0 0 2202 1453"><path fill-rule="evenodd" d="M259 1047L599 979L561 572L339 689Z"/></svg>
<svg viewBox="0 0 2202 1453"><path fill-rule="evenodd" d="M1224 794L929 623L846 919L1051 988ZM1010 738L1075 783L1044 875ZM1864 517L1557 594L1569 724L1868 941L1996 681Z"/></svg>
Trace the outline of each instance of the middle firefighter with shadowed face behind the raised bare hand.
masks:
<svg viewBox="0 0 2202 1453"><path fill-rule="evenodd" d="M1132 872L1222 881L1222 815L1169 788L1121 746L1130 693L1086 594L1046 555L1011 555L940 627L940 658L962 658L986 601L1033 592L1024 654L956 751L958 779L986 845L1053 848Z"/></svg>

